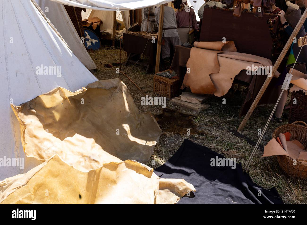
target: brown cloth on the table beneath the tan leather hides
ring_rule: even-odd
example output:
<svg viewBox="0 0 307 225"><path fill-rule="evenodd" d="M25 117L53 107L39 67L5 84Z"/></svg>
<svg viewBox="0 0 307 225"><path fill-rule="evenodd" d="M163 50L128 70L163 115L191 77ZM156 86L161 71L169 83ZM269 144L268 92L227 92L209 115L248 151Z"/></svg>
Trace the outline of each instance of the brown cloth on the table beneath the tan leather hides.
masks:
<svg viewBox="0 0 307 225"><path fill-rule="evenodd" d="M177 73L181 84L183 78L185 77L185 73L187 71L186 64L188 62L188 59L190 58L190 51L191 48L183 46L176 46L175 49L175 54L171 65L171 69L173 69ZM237 79L237 76L235 77L235 79ZM245 115L247 113L247 111L251 107L251 104L256 98L258 92L260 91L264 81L266 80L266 76L263 75L255 75L255 76L250 75L250 76L252 76L251 83L248 87L248 92L244 100L244 103L242 105L240 115ZM258 104L276 103L278 98L277 96L278 90L277 86L275 85L276 81L277 79L273 77L272 81L270 82L269 86L266 88L266 91L264 92Z"/></svg>

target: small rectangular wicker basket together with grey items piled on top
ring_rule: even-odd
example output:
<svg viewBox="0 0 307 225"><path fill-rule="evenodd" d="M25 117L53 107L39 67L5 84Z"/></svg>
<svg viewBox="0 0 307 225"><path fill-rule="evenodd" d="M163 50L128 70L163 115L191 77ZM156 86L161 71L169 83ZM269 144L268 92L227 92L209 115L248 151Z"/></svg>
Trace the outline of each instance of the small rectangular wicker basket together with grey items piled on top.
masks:
<svg viewBox="0 0 307 225"><path fill-rule="evenodd" d="M167 98L173 98L179 92L179 77L172 69L153 76L153 92Z"/></svg>

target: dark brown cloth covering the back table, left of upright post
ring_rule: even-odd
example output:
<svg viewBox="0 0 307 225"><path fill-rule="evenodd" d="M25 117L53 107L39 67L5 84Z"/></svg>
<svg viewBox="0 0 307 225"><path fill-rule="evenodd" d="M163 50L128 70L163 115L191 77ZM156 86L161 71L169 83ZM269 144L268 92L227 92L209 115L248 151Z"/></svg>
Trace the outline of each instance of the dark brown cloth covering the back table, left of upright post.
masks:
<svg viewBox="0 0 307 225"><path fill-rule="evenodd" d="M149 69L151 71L156 65L157 39L152 43L149 36L138 36L123 33L124 51L129 53L144 54L149 57Z"/></svg>

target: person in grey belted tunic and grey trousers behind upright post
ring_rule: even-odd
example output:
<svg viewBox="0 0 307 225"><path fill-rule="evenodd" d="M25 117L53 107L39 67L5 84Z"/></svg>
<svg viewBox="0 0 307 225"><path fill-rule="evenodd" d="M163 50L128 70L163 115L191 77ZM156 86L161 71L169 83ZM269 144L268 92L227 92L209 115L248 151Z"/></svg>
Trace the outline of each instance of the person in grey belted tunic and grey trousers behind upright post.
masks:
<svg viewBox="0 0 307 225"><path fill-rule="evenodd" d="M163 17L163 29L162 29L162 44L161 45L161 57L167 69L170 67L170 49L180 44L180 38L177 32L177 21L175 10L172 7L164 4L164 17ZM160 6L155 9L156 24L159 27L160 18Z"/></svg>

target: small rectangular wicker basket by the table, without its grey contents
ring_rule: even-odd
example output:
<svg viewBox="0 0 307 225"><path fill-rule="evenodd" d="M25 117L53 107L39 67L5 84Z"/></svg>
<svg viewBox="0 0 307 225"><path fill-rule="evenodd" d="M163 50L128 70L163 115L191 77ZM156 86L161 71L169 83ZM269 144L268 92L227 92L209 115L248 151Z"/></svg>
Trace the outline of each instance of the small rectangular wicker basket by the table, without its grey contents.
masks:
<svg viewBox="0 0 307 225"><path fill-rule="evenodd" d="M177 96L179 91L179 78L165 78L153 76L153 92L167 98Z"/></svg>

